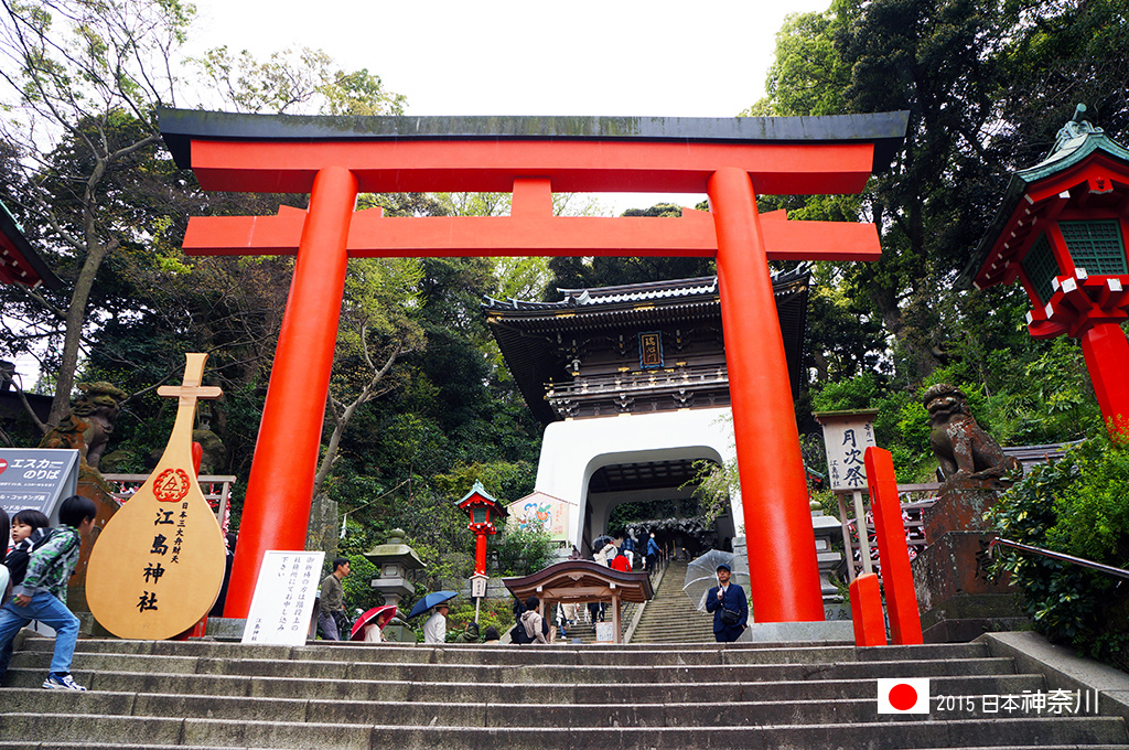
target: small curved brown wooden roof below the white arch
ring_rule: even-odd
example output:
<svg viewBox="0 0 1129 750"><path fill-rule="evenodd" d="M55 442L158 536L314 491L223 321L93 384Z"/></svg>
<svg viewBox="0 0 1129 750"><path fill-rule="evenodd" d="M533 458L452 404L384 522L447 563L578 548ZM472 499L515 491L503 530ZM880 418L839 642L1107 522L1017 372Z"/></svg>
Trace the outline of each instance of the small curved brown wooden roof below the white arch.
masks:
<svg viewBox="0 0 1129 750"><path fill-rule="evenodd" d="M621 573L592 560L564 560L522 578L502 578L518 601L530 596L551 602L610 602L618 592L624 602L642 603L655 598L646 573Z"/></svg>

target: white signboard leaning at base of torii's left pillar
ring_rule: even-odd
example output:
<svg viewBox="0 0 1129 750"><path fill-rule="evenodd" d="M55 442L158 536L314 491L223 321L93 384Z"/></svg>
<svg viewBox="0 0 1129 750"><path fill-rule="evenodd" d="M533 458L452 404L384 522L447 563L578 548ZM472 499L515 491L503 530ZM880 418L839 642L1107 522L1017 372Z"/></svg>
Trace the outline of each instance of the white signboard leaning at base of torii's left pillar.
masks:
<svg viewBox="0 0 1129 750"><path fill-rule="evenodd" d="M325 552L269 550L263 556L243 643L280 646L306 643L324 560Z"/></svg>

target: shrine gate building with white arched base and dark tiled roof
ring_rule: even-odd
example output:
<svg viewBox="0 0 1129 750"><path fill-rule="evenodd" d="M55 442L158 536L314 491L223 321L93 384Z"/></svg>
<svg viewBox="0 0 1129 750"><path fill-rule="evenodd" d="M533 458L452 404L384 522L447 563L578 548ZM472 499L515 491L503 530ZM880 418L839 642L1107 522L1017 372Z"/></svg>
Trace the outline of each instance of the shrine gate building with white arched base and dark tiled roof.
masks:
<svg viewBox="0 0 1129 750"><path fill-rule="evenodd" d="M772 289L796 394L808 273L777 274ZM536 491L576 509L569 541L587 555L615 506L689 498L697 461L735 457L729 376L717 277L560 291L483 311L545 426ZM739 492L717 534L744 537Z"/></svg>

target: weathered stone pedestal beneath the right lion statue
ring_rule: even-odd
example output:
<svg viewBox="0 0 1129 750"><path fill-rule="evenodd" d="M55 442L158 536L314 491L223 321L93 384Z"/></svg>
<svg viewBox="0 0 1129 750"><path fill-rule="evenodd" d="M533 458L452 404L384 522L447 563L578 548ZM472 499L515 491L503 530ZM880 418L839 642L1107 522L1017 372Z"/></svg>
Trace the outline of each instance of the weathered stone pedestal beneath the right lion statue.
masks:
<svg viewBox="0 0 1129 750"><path fill-rule="evenodd" d="M968 642L1025 621L1010 583L989 582L983 568L991 539L983 514L999 489L995 480L954 478L940 486L937 503L924 514L928 546L910 569L926 643Z"/></svg>

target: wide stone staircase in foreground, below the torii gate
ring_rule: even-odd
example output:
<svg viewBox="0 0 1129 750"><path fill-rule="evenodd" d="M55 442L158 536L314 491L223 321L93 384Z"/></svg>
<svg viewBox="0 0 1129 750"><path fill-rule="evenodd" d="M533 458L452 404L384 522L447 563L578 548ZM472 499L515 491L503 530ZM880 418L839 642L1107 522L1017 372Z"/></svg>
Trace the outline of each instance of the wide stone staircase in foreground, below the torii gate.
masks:
<svg viewBox="0 0 1129 750"><path fill-rule="evenodd" d="M1120 716L876 713L876 678L934 696L1048 690L984 643L242 646L80 640L87 692L40 688L28 638L0 689L14 748L1129 748ZM979 701L973 701L979 703Z"/></svg>

